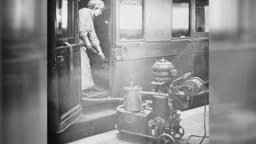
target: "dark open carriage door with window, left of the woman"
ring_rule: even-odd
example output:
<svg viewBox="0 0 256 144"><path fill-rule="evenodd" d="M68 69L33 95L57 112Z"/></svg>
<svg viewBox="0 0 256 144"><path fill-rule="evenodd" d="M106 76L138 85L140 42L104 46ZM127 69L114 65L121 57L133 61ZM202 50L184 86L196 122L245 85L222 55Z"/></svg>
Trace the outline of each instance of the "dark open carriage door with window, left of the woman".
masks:
<svg viewBox="0 0 256 144"><path fill-rule="evenodd" d="M48 10L48 113L50 128L63 132L82 112L78 2L48 1Z"/></svg>

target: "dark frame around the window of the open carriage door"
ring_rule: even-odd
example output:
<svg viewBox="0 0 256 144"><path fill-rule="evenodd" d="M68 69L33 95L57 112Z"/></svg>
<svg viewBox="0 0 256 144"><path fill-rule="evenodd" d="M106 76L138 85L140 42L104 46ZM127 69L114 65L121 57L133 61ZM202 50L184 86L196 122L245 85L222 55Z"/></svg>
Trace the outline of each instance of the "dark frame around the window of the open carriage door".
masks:
<svg viewBox="0 0 256 144"><path fill-rule="evenodd" d="M60 0L55 0L55 5L59 2ZM61 0L64 1L64 0ZM68 1L68 36L67 37L61 37L58 38L58 34L56 33L56 47L59 46L64 46L64 42L68 41L70 44L75 43L75 1L74 0L67 0ZM56 7L57 9L57 7ZM55 16L56 11L55 11ZM55 18L56 19L56 18ZM58 24L55 22L55 31L58 31Z"/></svg>

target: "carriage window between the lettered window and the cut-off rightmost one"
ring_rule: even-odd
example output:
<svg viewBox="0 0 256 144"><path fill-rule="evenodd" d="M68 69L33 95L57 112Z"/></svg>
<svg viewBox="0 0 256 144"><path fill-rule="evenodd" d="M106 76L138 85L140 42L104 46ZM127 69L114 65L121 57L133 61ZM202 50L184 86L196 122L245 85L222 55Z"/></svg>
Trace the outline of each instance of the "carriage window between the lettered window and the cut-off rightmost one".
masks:
<svg viewBox="0 0 256 144"><path fill-rule="evenodd" d="M172 37L182 39L190 37L190 1L173 0Z"/></svg>

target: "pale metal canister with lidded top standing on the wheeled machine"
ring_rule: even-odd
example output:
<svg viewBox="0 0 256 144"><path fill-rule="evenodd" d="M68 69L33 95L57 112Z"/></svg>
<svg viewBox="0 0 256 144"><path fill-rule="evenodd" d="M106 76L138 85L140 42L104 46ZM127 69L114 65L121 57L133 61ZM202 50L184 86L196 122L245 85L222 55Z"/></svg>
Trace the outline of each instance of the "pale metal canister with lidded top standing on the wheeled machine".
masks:
<svg viewBox="0 0 256 144"><path fill-rule="evenodd" d="M125 90L124 105L126 111L141 111L142 101L139 92L142 90L140 86L131 84L123 88Z"/></svg>

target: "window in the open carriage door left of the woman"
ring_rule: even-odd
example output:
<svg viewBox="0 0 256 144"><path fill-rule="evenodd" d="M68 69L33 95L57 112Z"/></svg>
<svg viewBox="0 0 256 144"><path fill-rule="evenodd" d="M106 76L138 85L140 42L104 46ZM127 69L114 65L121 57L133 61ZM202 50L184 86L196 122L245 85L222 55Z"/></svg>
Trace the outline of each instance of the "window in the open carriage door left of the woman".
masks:
<svg viewBox="0 0 256 144"><path fill-rule="evenodd" d="M74 1L56 0L57 39L74 39Z"/></svg>

